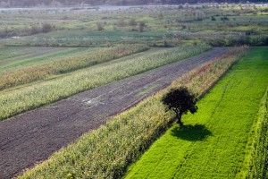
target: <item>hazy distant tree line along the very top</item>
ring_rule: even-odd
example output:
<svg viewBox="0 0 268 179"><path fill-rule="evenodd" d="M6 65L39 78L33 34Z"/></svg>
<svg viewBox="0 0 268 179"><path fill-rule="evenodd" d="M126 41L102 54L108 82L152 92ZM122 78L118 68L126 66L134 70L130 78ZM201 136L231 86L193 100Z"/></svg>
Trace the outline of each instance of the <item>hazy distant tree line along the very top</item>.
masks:
<svg viewBox="0 0 268 179"><path fill-rule="evenodd" d="M246 3L247 0L0 0L2 7L29 7L38 5L134 5L134 4L197 4L197 3ZM267 3L268 0L251 0L250 3Z"/></svg>

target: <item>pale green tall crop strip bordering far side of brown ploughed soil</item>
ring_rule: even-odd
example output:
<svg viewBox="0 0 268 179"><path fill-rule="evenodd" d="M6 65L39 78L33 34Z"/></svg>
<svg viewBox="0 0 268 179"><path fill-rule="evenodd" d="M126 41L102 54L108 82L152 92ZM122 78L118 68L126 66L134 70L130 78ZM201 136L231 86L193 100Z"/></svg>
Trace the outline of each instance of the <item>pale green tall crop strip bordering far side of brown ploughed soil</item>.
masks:
<svg viewBox="0 0 268 179"><path fill-rule="evenodd" d="M91 67L61 79L4 93L0 95L0 120L68 98L84 90L147 72L165 64L179 62L208 49L206 46L170 48L120 63Z"/></svg>

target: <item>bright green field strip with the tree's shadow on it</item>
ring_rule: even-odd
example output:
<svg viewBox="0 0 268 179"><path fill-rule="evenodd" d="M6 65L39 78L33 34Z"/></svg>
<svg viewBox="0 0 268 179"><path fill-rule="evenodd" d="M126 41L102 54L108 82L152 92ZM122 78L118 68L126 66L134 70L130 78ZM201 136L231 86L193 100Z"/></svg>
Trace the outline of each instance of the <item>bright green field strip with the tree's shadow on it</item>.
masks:
<svg viewBox="0 0 268 179"><path fill-rule="evenodd" d="M124 178L235 178L268 86L266 48L244 56L205 98L185 126L174 124L130 166Z"/></svg>

